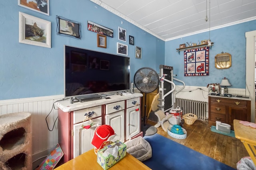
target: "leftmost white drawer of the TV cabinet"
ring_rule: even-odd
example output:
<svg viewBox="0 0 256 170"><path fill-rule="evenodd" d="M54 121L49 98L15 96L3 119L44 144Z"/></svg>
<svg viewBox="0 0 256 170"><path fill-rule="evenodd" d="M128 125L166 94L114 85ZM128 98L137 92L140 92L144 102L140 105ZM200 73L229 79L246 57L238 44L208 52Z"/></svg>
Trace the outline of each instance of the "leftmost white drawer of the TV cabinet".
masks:
<svg viewBox="0 0 256 170"><path fill-rule="evenodd" d="M101 116L101 105L74 111L73 124L84 121L86 118L85 114L88 115L90 119Z"/></svg>

